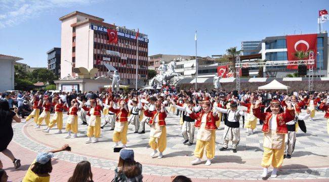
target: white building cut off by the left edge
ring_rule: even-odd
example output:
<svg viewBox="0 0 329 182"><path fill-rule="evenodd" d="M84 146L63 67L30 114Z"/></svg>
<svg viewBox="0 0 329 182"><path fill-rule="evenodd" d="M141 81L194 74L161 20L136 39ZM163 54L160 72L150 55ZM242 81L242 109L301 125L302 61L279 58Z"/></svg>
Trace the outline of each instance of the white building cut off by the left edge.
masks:
<svg viewBox="0 0 329 182"><path fill-rule="evenodd" d="M14 65L19 60L23 60L23 58L0 54L0 92L14 90Z"/></svg>

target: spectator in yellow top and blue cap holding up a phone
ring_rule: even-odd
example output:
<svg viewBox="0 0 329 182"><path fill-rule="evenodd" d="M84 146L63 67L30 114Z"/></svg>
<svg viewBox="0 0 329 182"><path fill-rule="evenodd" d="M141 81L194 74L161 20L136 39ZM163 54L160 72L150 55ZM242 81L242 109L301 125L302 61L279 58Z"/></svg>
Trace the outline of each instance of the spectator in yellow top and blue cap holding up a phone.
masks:
<svg viewBox="0 0 329 182"><path fill-rule="evenodd" d="M54 153L61 151L71 151L71 148L68 145L64 145L62 148L57 150L52 150L47 153L42 152L38 153L36 159L32 162L30 167L28 168L23 182L49 182L50 174L53 170L52 166L52 157L54 157Z"/></svg>

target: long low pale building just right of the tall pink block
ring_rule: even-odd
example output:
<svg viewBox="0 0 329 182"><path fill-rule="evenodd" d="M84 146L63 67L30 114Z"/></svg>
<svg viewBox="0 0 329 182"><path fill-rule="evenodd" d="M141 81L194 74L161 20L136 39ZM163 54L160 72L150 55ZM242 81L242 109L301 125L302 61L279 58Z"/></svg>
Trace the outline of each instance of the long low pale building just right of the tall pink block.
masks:
<svg viewBox="0 0 329 182"><path fill-rule="evenodd" d="M149 69L156 70L156 73L160 73L158 70L159 66L161 65L162 61L165 63L169 63L173 60L189 60L191 56L182 56L182 55L164 55L164 54L157 54L148 57L148 66Z"/></svg>

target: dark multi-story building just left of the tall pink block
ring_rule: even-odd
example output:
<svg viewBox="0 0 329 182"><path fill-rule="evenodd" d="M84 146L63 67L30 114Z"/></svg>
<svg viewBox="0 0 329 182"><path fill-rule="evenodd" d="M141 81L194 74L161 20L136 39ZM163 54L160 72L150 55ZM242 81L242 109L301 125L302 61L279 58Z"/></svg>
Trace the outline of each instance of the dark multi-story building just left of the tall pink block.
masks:
<svg viewBox="0 0 329 182"><path fill-rule="evenodd" d="M61 75L61 49L53 48L47 52L48 55L48 69L56 76Z"/></svg>

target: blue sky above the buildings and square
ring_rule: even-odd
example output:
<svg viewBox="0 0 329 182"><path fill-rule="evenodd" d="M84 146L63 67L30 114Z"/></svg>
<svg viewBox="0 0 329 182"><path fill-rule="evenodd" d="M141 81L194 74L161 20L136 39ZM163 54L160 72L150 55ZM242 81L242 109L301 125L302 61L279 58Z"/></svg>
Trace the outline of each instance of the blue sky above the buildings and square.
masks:
<svg viewBox="0 0 329 182"><path fill-rule="evenodd" d="M61 46L59 18L74 11L139 28L148 35L149 56L195 55L197 30L197 55L205 57L241 49L245 40L316 33L322 9L329 11L329 1L0 0L0 54L47 67L47 51Z"/></svg>

